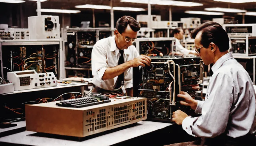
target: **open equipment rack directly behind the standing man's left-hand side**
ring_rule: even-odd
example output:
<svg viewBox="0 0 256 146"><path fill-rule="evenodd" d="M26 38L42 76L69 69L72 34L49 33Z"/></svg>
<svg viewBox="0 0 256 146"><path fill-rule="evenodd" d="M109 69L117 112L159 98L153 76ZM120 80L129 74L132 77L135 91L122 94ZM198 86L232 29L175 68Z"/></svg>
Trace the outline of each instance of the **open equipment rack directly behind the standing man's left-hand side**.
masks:
<svg viewBox="0 0 256 146"><path fill-rule="evenodd" d="M66 77L91 78L91 51L94 44L111 36L110 28L68 28L62 29L65 48Z"/></svg>

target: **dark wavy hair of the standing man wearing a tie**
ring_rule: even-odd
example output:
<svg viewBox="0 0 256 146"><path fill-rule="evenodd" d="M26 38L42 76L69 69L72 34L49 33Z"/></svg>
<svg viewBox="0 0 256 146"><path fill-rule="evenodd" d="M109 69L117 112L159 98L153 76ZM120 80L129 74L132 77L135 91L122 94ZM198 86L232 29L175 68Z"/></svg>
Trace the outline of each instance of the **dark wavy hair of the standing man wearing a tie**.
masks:
<svg viewBox="0 0 256 146"><path fill-rule="evenodd" d="M131 29L134 32L137 32L137 31L139 31L139 29L141 29L141 25L139 25L139 23L133 17L130 17L130 16L123 16L123 17L119 18L117 20L117 24L116 24L115 28L117 28L117 31L120 34L122 34L123 32L125 32L125 29L128 24L130 25Z"/></svg>

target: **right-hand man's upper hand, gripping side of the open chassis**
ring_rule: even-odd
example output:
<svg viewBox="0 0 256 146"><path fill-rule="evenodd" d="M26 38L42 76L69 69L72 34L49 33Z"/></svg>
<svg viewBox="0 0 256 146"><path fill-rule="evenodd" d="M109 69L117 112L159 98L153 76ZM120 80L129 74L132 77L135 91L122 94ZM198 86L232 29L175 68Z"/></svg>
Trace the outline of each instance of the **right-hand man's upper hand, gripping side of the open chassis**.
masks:
<svg viewBox="0 0 256 146"><path fill-rule="evenodd" d="M181 105L190 106L192 110L197 108L197 100L194 100L188 93L181 91L181 94L177 95L182 98L182 101L179 101Z"/></svg>

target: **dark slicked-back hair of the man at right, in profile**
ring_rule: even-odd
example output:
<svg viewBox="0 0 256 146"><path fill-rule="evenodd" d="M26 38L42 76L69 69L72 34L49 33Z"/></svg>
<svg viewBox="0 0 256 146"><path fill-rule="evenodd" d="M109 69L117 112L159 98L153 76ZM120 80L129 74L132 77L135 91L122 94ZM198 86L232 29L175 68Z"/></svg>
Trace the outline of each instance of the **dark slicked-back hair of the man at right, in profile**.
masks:
<svg viewBox="0 0 256 146"><path fill-rule="evenodd" d="M219 51L229 50L229 36L218 23L210 21L199 25L198 28L191 31L191 37L195 38L200 31L202 31L200 43L203 47L208 48L209 44L213 42L218 46Z"/></svg>

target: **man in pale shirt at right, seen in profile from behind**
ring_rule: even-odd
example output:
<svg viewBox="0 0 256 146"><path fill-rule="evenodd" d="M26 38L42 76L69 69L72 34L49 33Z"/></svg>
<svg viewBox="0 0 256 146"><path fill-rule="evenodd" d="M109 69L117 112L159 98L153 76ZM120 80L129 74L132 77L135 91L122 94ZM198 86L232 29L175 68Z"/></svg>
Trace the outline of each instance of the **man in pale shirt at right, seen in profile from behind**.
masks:
<svg viewBox="0 0 256 146"><path fill-rule="evenodd" d="M177 110L173 121L199 141L172 144L187 145L250 145L255 137L255 91L247 71L233 58L229 37L216 22L206 22L191 32L196 51L205 65L213 63L205 102L194 100L186 92L178 97L180 104L191 106L200 117L189 117ZM255 145L255 143L253 144Z"/></svg>

